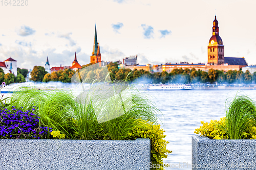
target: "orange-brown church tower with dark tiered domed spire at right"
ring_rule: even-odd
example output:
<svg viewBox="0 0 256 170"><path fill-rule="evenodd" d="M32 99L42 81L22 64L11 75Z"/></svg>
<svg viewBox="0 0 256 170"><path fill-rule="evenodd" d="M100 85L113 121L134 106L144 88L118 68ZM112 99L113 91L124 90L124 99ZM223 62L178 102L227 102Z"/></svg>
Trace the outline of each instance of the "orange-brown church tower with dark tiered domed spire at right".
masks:
<svg viewBox="0 0 256 170"><path fill-rule="evenodd" d="M208 45L208 64L220 65L224 64L224 45L219 36L218 20L216 19L216 16L213 24L212 36L210 37Z"/></svg>

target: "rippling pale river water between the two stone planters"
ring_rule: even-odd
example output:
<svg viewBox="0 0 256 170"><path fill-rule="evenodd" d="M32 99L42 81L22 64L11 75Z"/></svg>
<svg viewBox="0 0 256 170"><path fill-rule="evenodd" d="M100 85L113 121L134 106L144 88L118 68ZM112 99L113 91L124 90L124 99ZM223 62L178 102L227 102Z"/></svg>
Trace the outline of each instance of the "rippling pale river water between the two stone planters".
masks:
<svg viewBox="0 0 256 170"><path fill-rule="evenodd" d="M191 164L191 136L201 121L225 117L225 102L236 94L248 95L256 101L256 90L177 90L148 91L155 97L155 102L163 116L161 126L165 130L165 140L169 141L167 149L173 151L164 159L165 163ZM185 164L184 164L185 165ZM173 165L174 167L174 165ZM182 167L182 166L180 166ZM191 169L183 168L166 169Z"/></svg>

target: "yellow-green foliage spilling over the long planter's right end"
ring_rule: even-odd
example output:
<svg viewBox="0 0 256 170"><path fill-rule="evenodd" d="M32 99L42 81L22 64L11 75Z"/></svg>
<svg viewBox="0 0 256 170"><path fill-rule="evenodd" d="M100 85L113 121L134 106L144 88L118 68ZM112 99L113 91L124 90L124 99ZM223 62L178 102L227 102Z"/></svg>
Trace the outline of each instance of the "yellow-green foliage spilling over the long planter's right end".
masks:
<svg viewBox="0 0 256 170"><path fill-rule="evenodd" d="M146 120L141 120L140 123L136 127L133 128L131 137L133 138L149 138L151 139L151 163L152 164L161 164L162 167L152 168L152 169L163 169L163 158L167 158L167 153L172 153L166 149L168 141L163 138L165 131L160 129L160 125L154 125L153 123L149 123Z"/></svg>

